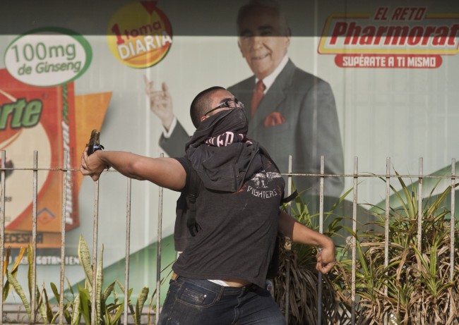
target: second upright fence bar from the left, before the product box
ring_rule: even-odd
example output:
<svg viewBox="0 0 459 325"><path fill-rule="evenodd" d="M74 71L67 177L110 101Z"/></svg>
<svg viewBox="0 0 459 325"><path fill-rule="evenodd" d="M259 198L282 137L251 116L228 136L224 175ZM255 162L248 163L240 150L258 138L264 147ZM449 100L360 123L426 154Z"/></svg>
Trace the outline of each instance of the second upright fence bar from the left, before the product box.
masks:
<svg viewBox="0 0 459 325"><path fill-rule="evenodd" d="M36 322L35 298L37 294L37 196L38 196L38 152L33 152L33 209L32 209L32 297L30 298L30 310L32 311L32 323Z"/></svg>

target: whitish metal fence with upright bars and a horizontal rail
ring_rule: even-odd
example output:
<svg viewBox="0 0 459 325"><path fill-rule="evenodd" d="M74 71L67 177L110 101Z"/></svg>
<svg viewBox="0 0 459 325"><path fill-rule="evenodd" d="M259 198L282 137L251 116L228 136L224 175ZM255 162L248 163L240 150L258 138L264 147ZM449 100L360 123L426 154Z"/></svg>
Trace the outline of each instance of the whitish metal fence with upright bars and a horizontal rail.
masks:
<svg viewBox="0 0 459 325"><path fill-rule="evenodd" d="M37 309L37 306L42 303L42 297L40 295L40 289L37 287L36 283L36 270L37 270L37 261L36 261L36 250L37 250L37 173L38 171L49 171L53 173L62 173L62 197L61 197L61 202L62 202L62 209L61 209L61 247L60 247L60 255L61 255L61 262L60 262L60 278L59 278L59 317L55 319L55 323L57 324L66 324L66 319L64 319L64 313L66 312L65 310L65 304L64 304L64 279L66 278L65 276L65 247L66 247L66 240L65 240L65 233L66 233L66 222L65 222L65 214L66 214L66 204L68 200L68 193L66 191L66 188L68 188L68 182L72 179L71 178L71 173L78 173L78 169L72 169L68 168L68 152L64 152L64 164L62 168L38 168L38 152L35 151L33 155L33 161L32 161L32 168L7 168L5 166L5 161L6 161L6 152L2 151L1 152L1 168L0 168L0 188L1 188L1 196L0 196L0 270L6 269L6 262L5 262L5 209L6 209L6 194L8 192L8 188L6 186L6 172L7 171L25 171L25 172L31 172L32 173L32 184L30 186L32 187L32 240L31 240L31 248L32 251L28 252L28 254L31 254L31 259L32 259L32 264L31 264L31 285L30 285L30 290L31 290L31 295L30 299L28 300L28 303L30 304L30 310L31 310L31 318L30 321L28 322L23 322L23 321L15 321L13 323L8 322L7 318L4 318L6 314L6 310L4 309L5 307L5 302L4 302L4 290L6 290L4 284L6 283L6 276L3 276L3 280L0 281L0 292L2 293L0 295L0 314L2 317L0 318L0 325L9 325L9 324L42 324L43 319L40 316L40 313L37 314L35 310ZM342 174L342 175L335 175L335 174L326 174L324 173L324 168L325 166L325 159L324 157L321 157L321 172L316 174L316 173L292 173L292 157L289 159L289 170L287 173L282 173L283 176L286 176L288 178L288 188L287 192L288 195L291 194L291 189L292 189L292 177L294 176L299 176L299 177L311 177L311 178L316 178L319 180L319 185L320 185L320 190L319 190L319 195L318 195L318 231L323 233L324 231L324 215L326 214L326 211L324 211L324 179L326 177L340 177L340 178L348 178L352 180L352 189L350 190L350 193L352 193L352 233L357 234L358 229L357 229L357 224L358 224L358 214L357 210L359 207L358 203L358 196L357 196L357 190L359 188L359 180L365 179L365 178L378 178L383 180L383 185L385 186L385 200L384 200L384 207L383 207L383 225L384 225L384 255L383 255L383 266L386 269L388 265L390 264L390 257L389 257L389 251L391 247L391 243L389 240L389 235L390 235L390 223L391 223L391 204L390 204L390 197L392 194L394 194L393 190L393 185L391 185L391 180L394 178L396 179L403 179L403 178L416 178L417 179L417 250L419 252L422 252L423 250L423 243L422 243L422 222L423 222L423 215L422 215L422 209L423 209L423 202L425 197L423 196L423 190L424 190L424 180L427 178L432 178L436 180L450 180L451 185L451 205L449 207L450 210L450 218L451 218L451 229L450 229L450 240L451 243L449 245L449 250L450 250L450 265L448 266L449 268L449 281L453 283L453 281L457 281L457 279L454 279L454 269L455 267L455 187L456 187L456 180L458 176L455 174L455 159L452 159L451 161L451 174L450 175L439 175L439 176L427 176L424 175L424 166L423 166L423 160L422 158L419 159L419 173L417 175L400 175L397 173L391 173L391 159L387 158L386 159L386 173L385 174L375 174L375 173L359 173L359 166L358 166L358 159L357 157L354 157L354 166L353 166L353 173L352 174ZM107 172L107 171L105 171ZM109 171L109 172L115 172L115 171ZM131 245L131 179L126 178L127 180L127 188L126 188L126 242L125 242L125 278L124 278L124 290L126 290L126 293L129 290L129 273L130 273L130 266L129 266L129 255L130 255L130 245ZM29 186L28 184L24 184L24 186ZM162 218L163 218L163 192L162 188L159 189L158 192L158 210L157 210L157 260L156 260L156 270L157 270L157 278L156 278L156 314L155 314L155 324L157 324L157 319L159 318L160 314L160 285L161 285L161 252L162 252ZM94 210L94 215L93 215L93 259L92 259L92 265L93 265L93 272L92 272L92 287L91 287L91 292L93 293L91 295L91 325L99 324L99 321L97 319L100 319L100 305L96 293L97 292L97 286L96 283L98 281L97 276L100 271L98 269L99 262L97 259L97 235L98 235L98 221L99 221L99 180L95 182L94 185L94 200L93 200L93 210ZM287 205L287 211L288 213L291 212L291 203ZM350 236L350 250L351 250L351 260L352 260L352 274L351 274L351 288L350 288L350 314L347 314L348 317L348 323L347 324L356 324L357 323L357 304L359 301L359 297L357 294L357 264L358 261L357 259L357 235L351 235ZM102 265L102 264L100 264ZM289 269L287 267L287 269ZM287 283L290 283L290 274L286 274L287 278ZM323 319L322 319L322 312L323 312L323 301L322 301L322 294L323 294L323 276L322 274L318 274L318 304L316 306L317 310L317 324L323 324ZM38 290L38 291L37 291ZM290 321L290 306L289 306L289 290L294 290L294 288L290 288L290 284L287 284L287 295L286 295L286 300L285 300L285 319L287 324L289 324ZM384 286L383 288L383 293L388 295L388 288L387 286ZM450 319L455 319L455 317L458 317L458 309L459 306L454 305L455 300L453 299L453 291L451 291L451 295L448 298L449 299L449 309L448 312L450 314ZM129 310L129 305L128 305L128 299L124 299L123 302L124 305L124 312L123 312L123 318L122 322L123 324L129 324L129 314L131 313ZM344 312L344 311L343 311ZM11 312L10 312L11 313ZM131 317L140 317L139 315L131 315ZM388 311L385 315L385 319L383 320L384 324L398 324L395 322L390 322L393 321L392 319L393 314L390 314L390 311ZM5 321L6 319L6 321ZM83 319L81 319L83 321ZM150 323L153 324L153 321L150 321ZM401 324L401 323L400 323ZM458 324L456 321L454 323L454 320L451 321L450 324Z"/></svg>

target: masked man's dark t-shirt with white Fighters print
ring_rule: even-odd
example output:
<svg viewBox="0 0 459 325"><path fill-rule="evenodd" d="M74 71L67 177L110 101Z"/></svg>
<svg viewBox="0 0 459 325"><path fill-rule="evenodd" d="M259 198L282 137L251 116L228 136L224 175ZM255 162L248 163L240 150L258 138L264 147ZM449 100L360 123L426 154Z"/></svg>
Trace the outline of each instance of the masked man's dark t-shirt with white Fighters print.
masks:
<svg viewBox="0 0 459 325"><path fill-rule="evenodd" d="M177 160L189 173L184 159ZM275 249L284 187L284 179L266 157L263 168L238 192L201 186L196 200L199 231L189 238L172 266L174 272L187 278L240 278L263 287Z"/></svg>

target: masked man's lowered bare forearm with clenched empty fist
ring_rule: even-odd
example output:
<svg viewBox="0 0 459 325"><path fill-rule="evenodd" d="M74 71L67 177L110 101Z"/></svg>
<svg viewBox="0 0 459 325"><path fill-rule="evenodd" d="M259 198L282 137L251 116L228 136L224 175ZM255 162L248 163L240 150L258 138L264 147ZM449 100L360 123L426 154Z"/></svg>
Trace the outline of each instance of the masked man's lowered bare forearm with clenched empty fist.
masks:
<svg viewBox="0 0 459 325"><path fill-rule="evenodd" d="M335 265L335 244L330 237L313 231L285 212L279 214L279 231L294 241L321 248L317 254L316 269L326 274Z"/></svg>

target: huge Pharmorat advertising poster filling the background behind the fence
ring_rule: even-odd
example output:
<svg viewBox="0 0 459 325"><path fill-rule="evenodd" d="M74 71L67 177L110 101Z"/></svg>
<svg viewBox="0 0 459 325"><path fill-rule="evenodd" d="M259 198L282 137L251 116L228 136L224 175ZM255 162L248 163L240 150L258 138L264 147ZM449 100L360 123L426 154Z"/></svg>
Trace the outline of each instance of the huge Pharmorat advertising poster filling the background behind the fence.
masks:
<svg viewBox="0 0 459 325"><path fill-rule="evenodd" d="M238 18L249 2L0 5L0 143L12 168L6 171L5 245L30 242L30 168L37 150L42 281L59 278L63 219L72 257L66 276L72 284L84 278L76 250L80 235L93 239L95 192L78 168L91 130L100 130L105 149L179 157L195 130L191 101L215 85L244 103L248 137L261 142L282 173L289 155L292 172L307 174L320 173L325 157L325 173L338 175L325 179L326 204L352 188L356 168L386 173L388 157L391 172L413 175L413 182L421 157L424 175L451 176L452 159L459 159L459 4L258 1L270 9L246 7ZM276 6L281 16L273 13ZM254 104L256 81L265 77L266 93ZM63 174L49 169L62 168L64 150L73 171L62 215ZM429 192L433 183L426 184ZM294 185L311 211L317 209L318 178L296 176ZM119 173L100 179L97 243L104 245L107 281L124 278L126 189ZM131 190L136 293L155 287L159 189L133 180ZM384 195L383 181L359 179L359 203L380 204ZM170 190L162 197L165 266L175 256L178 197ZM351 195L345 202L352 206Z"/></svg>

